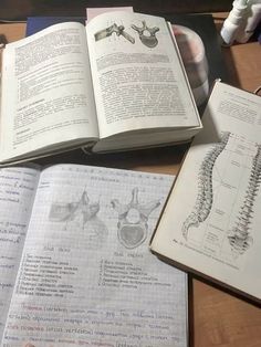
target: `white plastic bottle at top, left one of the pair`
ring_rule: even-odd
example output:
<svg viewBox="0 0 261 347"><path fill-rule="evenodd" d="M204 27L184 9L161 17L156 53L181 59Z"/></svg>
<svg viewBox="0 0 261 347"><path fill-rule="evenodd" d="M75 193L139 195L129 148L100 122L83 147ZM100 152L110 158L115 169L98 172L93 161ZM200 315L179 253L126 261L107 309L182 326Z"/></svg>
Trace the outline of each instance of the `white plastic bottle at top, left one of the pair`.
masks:
<svg viewBox="0 0 261 347"><path fill-rule="evenodd" d="M220 31L220 35L226 45L232 44L237 38L248 9L247 2L248 0L234 0L232 3L233 8L229 12Z"/></svg>

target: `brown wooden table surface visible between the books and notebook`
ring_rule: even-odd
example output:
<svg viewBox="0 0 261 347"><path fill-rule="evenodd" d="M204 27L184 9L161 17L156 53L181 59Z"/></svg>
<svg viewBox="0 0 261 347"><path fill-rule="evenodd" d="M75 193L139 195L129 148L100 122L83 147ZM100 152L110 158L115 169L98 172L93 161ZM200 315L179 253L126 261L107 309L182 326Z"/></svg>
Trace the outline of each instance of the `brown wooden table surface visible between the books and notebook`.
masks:
<svg viewBox="0 0 261 347"><path fill-rule="evenodd" d="M218 29L225 17L223 13L213 14ZM24 29L24 23L0 24L0 34L6 34L8 41L11 42L22 38ZM228 67L230 84L247 91L254 91L261 84L261 45L258 42L223 48L222 54ZM84 157L84 160L85 164L91 165L175 175L186 148L187 146L178 146L98 158L86 159ZM62 156L63 158L66 160L66 155ZM74 157L71 161L79 160L82 161L83 158ZM257 276L260 275L257 274ZM261 346L260 307L199 280L192 277L190 280L190 346Z"/></svg>

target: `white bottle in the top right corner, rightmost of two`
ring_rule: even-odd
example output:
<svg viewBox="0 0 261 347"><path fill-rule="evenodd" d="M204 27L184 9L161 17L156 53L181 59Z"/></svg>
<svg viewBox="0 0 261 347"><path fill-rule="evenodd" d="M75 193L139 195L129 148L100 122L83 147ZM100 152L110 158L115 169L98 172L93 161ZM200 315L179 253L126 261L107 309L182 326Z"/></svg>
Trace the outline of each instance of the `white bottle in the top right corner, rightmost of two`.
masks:
<svg viewBox="0 0 261 347"><path fill-rule="evenodd" d="M243 24L237 32L236 41L246 43L261 21L261 0L249 0Z"/></svg>

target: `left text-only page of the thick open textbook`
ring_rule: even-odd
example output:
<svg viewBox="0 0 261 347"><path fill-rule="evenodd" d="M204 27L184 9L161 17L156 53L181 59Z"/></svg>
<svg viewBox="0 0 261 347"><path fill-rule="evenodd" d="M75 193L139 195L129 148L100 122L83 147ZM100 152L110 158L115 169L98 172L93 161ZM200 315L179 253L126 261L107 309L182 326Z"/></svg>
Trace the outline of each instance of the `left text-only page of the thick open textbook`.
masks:
<svg viewBox="0 0 261 347"><path fill-rule="evenodd" d="M56 24L8 44L0 160L67 140L97 138L91 80L81 23Z"/></svg>

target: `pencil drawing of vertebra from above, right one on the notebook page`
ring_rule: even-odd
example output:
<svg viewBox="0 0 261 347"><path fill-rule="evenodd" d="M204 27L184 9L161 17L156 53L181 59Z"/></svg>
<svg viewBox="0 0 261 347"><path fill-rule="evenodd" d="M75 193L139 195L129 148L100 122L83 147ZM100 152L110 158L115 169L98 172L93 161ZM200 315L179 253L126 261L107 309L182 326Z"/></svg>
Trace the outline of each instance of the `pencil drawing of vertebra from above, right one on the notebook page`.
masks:
<svg viewBox="0 0 261 347"><path fill-rule="evenodd" d="M135 249L147 236L148 217L160 202L150 201L146 204L138 202L138 188L132 191L132 200L124 204L117 199L112 200L112 206L118 213L117 236L126 249Z"/></svg>

